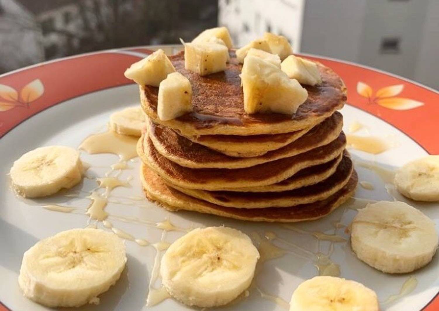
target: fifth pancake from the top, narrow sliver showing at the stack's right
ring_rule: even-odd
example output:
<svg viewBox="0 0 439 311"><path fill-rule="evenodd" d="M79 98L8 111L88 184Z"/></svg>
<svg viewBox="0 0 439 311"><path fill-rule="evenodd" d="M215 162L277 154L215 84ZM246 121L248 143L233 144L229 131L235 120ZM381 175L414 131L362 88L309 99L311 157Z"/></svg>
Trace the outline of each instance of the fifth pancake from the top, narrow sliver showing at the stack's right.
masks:
<svg viewBox="0 0 439 311"><path fill-rule="evenodd" d="M224 189L224 191L280 192L280 191L287 191L301 187L306 187L312 184L317 184L319 181L323 181L327 177L334 174L335 170L337 169L338 163L340 163L342 158L343 155L340 154L337 158L327 163L304 168L303 170L299 170L299 172L297 172L293 176L283 181L280 181L276 184L269 184L267 186L259 186L259 187L226 188Z"/></svg>

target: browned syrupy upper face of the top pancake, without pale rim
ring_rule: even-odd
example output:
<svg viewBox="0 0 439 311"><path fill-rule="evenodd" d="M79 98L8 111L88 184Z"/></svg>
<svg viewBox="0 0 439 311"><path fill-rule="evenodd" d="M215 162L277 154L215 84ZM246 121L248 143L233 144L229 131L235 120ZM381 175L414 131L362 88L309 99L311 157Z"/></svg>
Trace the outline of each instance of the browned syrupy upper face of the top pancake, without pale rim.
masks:
<svg viewBox="0 0 439 311"><path fill-rule="evenodd" d="M239 77L242 65L237 64L234 53L231 57L225 71L208 76L200 76L198 73L184 69L184 52L169 57L176 71L186 76L192 85L194 111L176 120L202 129L218 124L246 127L291 120L318 119L341 108L346 101L345 85L341 78L330 68L318 64L322 83L316 86L303 85L308 90L308 99L299 106L294 115L247 114L244 111L244 98ZM148 107L157 112L158 87L144 86L144 96Z"/></svg>

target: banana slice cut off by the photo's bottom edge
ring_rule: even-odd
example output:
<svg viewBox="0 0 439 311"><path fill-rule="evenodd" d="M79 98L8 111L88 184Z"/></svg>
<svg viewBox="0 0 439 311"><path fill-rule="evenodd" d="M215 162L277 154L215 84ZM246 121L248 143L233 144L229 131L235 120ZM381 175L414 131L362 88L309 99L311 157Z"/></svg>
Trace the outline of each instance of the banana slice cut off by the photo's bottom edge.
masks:
<svg viewBox="0 0 439 311"><path fill-rule="evenodd" d="M378 311L378 298L361 283L316 276L300 284L293 293L290 311Z"/></svg>

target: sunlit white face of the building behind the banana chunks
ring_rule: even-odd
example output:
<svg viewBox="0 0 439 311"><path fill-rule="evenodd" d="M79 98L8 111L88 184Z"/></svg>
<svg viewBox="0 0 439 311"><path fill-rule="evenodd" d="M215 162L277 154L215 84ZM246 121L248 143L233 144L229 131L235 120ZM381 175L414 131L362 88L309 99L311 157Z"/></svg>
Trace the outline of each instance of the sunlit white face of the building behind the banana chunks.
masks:
<svg viewBox="0 0 439 311"><path fill-rule="evenodd" d="M218 23L242 47L268 31L285 36L300 51L305 0L219 0Z"/></svg>

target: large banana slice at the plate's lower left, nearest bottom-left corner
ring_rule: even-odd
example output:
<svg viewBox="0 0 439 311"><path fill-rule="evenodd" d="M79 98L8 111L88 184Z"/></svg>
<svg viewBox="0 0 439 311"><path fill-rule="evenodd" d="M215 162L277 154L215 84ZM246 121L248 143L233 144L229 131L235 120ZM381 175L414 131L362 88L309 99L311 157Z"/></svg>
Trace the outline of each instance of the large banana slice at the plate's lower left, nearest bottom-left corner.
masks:
<svg viewBox="0 0 439 311"><path fill-rule="evenodd" d="M125 244L101 229L72 229L37 242L23 255L18 284L25 297L48 307L99 303L119 279Z"/></svg>

